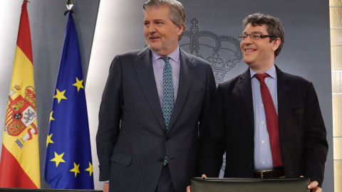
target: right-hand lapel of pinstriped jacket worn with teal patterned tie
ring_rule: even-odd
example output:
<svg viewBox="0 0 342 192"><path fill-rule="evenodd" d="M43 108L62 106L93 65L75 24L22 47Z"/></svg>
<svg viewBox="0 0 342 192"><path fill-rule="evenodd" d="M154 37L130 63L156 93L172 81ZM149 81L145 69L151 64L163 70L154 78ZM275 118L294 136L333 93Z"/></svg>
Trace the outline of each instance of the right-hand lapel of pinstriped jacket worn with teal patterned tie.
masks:
<svg viewBox="0 0 342 192"><path fill-rule="evenodd" d="M185 100L187 100L187 95L189 95L194 73L194 63L192 63L192 60L190 60L190 58L188 58L187 55L180 50L180 82L178 84L177 98L175 101L175 106L173 107L168 130L172 129L176 119L180 116L180 112L185 104Z"/></svg>

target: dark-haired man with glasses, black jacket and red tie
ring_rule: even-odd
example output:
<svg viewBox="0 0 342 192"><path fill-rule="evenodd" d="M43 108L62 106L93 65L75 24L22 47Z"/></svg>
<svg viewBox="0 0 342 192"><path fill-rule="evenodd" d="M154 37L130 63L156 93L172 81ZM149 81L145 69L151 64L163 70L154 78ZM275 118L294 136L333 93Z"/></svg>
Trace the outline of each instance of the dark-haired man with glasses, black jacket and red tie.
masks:
<svg viewBox="0 0 342 192"><path fill-rule="evenodd" d="M328 144L314 86L274 65L284 44L278 18L252 14L243 25L249 69L217 87L199 134L199 174L218 177L226 151L224 177L304 176L308 188L321 191Z"/></svg>

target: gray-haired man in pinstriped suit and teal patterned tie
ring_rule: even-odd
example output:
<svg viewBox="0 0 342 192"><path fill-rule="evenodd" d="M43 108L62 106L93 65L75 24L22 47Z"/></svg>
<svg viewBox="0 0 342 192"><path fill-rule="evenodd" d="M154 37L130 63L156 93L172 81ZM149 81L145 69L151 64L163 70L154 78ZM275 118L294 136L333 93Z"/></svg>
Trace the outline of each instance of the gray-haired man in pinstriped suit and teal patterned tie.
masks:
<svg viewBox="0 0 342 192"><path fill-rule="evenodd" d="M177 45L185 31L180 2L150 0L143 8L148 48L115 56L103 92L100 181L104 191L185 191L198 174L198 132L214 75Z"/></svg>

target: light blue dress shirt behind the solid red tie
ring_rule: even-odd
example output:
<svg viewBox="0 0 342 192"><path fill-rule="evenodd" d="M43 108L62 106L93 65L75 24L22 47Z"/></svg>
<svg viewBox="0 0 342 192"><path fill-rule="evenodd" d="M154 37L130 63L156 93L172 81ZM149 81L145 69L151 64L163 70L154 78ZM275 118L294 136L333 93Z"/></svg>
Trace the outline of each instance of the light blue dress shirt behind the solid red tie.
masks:
<svg viewBox="0 0 342 192"><path fill-rule="evenodd" d="M257 72L250 69L254 109L254 169L269 170L273 169L271 146L269 145L269 133L267 132L266 115L261 98L260 82L254 77ZM269 88L274 107L278 113L278 99L276 93L276 68L272 65L265 73L269 74L265 78L265 83Z"/></svg>

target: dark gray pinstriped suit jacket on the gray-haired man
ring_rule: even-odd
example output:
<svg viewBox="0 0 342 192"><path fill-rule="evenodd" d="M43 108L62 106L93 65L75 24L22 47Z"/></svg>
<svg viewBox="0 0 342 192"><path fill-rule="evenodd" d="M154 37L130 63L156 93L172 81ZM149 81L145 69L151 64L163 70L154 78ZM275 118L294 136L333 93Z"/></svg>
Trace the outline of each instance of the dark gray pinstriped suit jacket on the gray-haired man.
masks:
<svg viewBox="0 0 342 192"><path fill-rule="evenodd" d="M96 135L100 181L110 191L155 191L164 156L176 191L197 175L198 132L216 89L209 63L180 50L177 100L165 129L148 48L117 55Z"/></svg>

